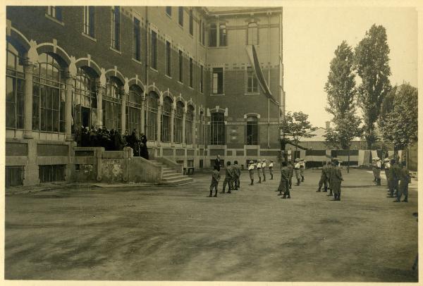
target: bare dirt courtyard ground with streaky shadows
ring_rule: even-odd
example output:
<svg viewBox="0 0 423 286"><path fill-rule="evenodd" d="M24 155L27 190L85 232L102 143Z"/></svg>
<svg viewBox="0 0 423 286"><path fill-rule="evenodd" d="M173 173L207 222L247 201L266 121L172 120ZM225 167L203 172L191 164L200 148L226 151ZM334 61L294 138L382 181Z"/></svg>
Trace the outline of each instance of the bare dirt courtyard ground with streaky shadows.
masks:
<svg viewBox="0 0 423 286"><path fill-rule="evenodd" d="M320 171L307 170L281 199L275 173L249 186L244 172L240 191L217 198L209 173L178 187L8 194L5 278L417 281L416 181L396 204L386 180L375 187L367 171L343 170L342 201L331 201L315 192Z"/></svg>

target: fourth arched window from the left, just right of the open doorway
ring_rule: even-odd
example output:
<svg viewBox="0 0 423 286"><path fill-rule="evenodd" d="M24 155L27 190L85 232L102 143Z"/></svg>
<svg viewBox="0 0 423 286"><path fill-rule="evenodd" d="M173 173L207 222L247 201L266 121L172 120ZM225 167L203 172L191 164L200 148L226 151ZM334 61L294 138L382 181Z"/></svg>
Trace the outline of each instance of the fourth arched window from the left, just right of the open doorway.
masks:
<svg viewBox="0 0 423 286"><path fill-rule="evenodd" d="M121 82L116 77L107 78L102 107L103 125L121 132Z"/></svg>

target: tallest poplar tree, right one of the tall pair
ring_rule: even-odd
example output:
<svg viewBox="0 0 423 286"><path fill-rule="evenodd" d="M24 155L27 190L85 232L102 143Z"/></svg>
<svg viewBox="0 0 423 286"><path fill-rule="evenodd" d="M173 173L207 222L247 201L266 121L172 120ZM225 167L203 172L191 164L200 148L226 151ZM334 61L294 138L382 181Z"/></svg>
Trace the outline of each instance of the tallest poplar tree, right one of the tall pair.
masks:
<svg viewBox="0 0 423 286"><path fill-rule="evenodd" d="M362 80L358 87L358 102L364 115L364 137L369 149L378 138L374 123L379 117L381 103L391 89L388 54L386 29L381 25L372 25L355 47L355 70Z"/></svg>

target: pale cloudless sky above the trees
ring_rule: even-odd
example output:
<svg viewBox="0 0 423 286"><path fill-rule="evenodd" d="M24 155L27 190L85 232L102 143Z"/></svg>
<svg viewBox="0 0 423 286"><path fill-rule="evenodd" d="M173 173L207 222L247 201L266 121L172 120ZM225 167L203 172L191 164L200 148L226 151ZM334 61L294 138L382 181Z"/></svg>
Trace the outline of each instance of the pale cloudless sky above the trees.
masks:
<svg viewBox="0 0 423 286"><path fill-rule="evenodd" d="M302 111L324 127L324 85L336 47L353 48L369 28L383 25L391 49L391 84L417 87L417 11L415 8L283 7L283 65L286 111Z"/></svg>

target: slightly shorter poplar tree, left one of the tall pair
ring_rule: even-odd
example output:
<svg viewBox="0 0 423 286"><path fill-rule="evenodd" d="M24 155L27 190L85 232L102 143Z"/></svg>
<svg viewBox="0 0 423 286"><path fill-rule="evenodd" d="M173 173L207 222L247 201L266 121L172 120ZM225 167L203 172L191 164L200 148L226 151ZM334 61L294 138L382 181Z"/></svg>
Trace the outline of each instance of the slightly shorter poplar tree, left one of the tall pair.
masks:
<svg viewBox="0 0 423 286"><path fill-rule="evenodd" d="M328 81L324 87L327 94L326 111L333 115L335 128L326 130L326 146L348 150L348 172L350 171L351 141L360 136L361 120L355 116L355 75L354 54L347 42L343 41L335 50L331 61Z"/></svg>

